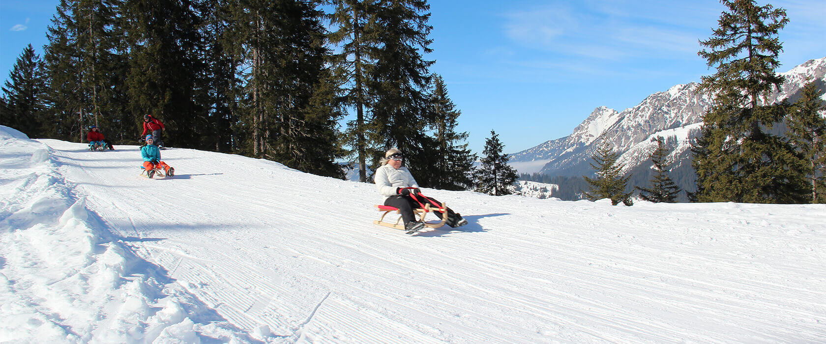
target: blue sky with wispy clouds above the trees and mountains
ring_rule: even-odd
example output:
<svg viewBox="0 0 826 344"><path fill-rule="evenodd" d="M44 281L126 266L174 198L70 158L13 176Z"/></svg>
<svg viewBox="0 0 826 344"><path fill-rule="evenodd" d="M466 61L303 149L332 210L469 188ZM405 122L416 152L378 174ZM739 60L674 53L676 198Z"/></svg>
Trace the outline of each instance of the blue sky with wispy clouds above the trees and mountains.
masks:
<svg viewBox="0 0 826 344"><path fill-rule="evenodd" d="M42 56L58 0L0 1L0 73L31 43ZM767 2L759 1L764 4ZM786 9L785 72L826 56L826 2ZM618 111L711 73L697 56L717 26L717 1L431 0L427 56L462 111L459 130L481 153L496 130L505 153L570 134L597 106Z"/></svg>

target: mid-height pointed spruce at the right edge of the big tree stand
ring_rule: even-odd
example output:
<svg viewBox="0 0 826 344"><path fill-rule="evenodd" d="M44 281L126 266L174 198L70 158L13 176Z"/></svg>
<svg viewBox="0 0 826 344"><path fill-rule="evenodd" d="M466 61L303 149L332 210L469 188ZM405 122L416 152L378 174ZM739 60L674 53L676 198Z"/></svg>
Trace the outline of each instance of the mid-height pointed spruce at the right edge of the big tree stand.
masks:
<svg viewBox="0 0 826 344"><path fill-rule="evenodd" d="M473 185L473 162L476 155L470 152L468 133L457 133L458 117L453 101L448 97L447 87L440 76L433 78L433 92L430 95L432 126L438 144L435 163L431 167L435 173L431 187L445 190L467 190Z"/></svg>

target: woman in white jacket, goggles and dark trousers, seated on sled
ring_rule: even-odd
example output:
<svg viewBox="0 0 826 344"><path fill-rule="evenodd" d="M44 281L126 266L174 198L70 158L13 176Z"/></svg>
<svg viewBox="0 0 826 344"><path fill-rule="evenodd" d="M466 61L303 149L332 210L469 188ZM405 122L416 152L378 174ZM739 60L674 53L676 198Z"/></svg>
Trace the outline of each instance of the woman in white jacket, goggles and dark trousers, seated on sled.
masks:
<svg viewBox="0 0 826 344"><path fill-rule="evenodd" d="M384 154L384 158L382 158L382 167L378 167L373 180L376 182L378 193L384 196L384 205L398 208L401 218L405 221L407 233L415 233L423 229L425 224L415 220L413 210L419 207L419 203L411 198L411 194L420 200L426 198L433 201L434 204L441 203L438 200L421 195L419 184L413 178L410 170L401 166L402 161L404 161L404 157L401 155L401 151L396 148L388 149L387 153ZM434 211L434 214L439 216L439 219L444 215L438 211ZM446 224L450 227L459 227L468 224L468 220L462 219L462 215L448 208Z"/></svg>

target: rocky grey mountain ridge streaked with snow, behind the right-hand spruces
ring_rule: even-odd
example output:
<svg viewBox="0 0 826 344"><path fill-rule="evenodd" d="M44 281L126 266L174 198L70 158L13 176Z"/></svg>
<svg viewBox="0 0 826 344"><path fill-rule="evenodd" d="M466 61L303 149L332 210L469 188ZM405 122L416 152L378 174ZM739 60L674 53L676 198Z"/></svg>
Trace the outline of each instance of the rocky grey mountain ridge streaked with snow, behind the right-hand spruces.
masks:
<svg viewBox="0 0 826 344"><path fill-rule="evenodd" d="M800 89L809 80L816 80L826 100L826 58L810 59L804 64L780 73L786 78L779 92L769 101L795 101ZM553 139L534 148L510 154L510 165L520 173L539 172L551 176L590 175L589 162L596 144L607 141L625 163L626 172L643 170L650 165L644 152L651 150L650 139L657 134L673 137L671 156L675 166L690 167L691 129L699 129L702 115L710 108L711 97L698 92L699 84L675 85L657 92L637 106L618 112L605 106L597 107L578 125L572 134Z"/></svg>

